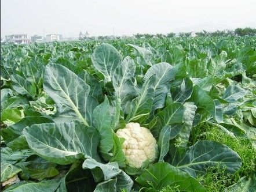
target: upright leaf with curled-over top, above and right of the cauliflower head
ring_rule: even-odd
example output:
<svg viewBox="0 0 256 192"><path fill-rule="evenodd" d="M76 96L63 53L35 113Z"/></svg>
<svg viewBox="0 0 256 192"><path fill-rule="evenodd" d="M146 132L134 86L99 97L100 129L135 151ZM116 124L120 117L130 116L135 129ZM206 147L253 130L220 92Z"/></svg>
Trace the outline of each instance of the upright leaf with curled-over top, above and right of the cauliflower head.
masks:
<svg viewBox="0 0 256 192"><path fill-rule="evenodd" d="M170 91L170 81L174 79L173 66L169 63L158 63L147 70L144 80L147 81L153 74L156 76L153 82L154 99L152 110L164 107L167 93Z"/></svg>

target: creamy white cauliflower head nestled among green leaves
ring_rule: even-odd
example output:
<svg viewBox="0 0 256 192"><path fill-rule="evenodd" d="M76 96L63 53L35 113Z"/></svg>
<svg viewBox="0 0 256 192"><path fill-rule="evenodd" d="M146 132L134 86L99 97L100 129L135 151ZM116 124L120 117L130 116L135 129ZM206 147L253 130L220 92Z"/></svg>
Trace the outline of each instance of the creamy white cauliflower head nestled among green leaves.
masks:
<svg viewBox="0 0 256 192"><path fill-rule="evenodd" d="M145 161L156 159L158 145L152 133L138 123L128 123L124 129L116 131L119 138L124 138L123 152L129 167L141 168Z"/></svg>

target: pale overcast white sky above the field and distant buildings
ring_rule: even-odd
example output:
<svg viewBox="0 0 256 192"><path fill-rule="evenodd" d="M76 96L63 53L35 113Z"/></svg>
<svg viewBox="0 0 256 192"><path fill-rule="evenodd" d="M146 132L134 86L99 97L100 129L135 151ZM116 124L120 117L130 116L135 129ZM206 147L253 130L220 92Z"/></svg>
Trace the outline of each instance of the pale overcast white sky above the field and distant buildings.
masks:
<svg viewBox="0 0 256 192"><path fill-rule="evenodd" d="M256 28L255 7L255 0L1 0L1 37Z"/></svg>

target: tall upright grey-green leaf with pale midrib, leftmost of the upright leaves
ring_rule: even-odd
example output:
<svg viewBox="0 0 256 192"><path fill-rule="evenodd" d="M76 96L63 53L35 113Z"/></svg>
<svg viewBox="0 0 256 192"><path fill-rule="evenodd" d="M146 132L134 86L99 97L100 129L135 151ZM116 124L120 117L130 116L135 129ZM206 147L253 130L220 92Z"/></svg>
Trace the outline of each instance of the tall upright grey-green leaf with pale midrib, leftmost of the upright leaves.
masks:
<svg viewBox="0 0 256 192"><path fill-rule="evenodd" d="M75 73L58 64L47 65L43 88L57 105L55 121L91 125L97 101L89 96L90 86Z"/></svg>

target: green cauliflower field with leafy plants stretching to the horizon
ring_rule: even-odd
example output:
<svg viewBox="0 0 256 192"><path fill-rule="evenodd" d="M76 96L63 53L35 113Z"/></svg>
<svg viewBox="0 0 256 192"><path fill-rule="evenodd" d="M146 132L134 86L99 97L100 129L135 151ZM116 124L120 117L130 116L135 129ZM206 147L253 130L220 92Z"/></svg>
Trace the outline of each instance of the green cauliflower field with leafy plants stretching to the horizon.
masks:
<svg viewBox="0 0 256 192"><path fill-rule="evenodd" d="M1 190L256 191L255 47L1 44Z"/></svg>

